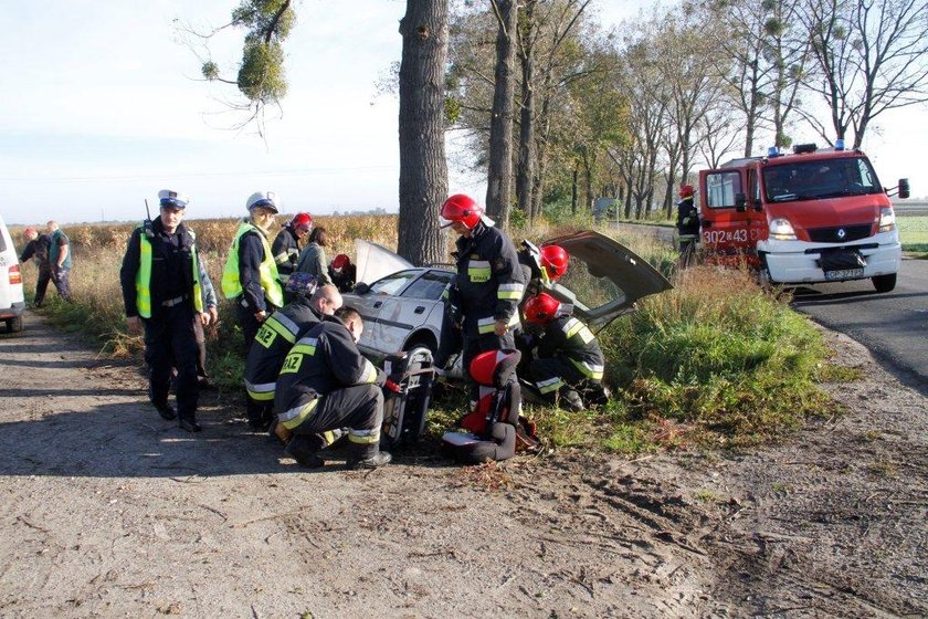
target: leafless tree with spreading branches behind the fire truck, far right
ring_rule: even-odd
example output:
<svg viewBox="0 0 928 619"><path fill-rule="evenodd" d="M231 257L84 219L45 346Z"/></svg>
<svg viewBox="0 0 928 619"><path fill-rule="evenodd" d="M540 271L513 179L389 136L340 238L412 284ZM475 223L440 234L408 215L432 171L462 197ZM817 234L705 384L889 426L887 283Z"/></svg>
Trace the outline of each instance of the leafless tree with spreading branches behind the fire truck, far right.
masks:
<svg viewBox="0 0 928 619"><path fill-rule="evenodd" d="M806 86L831 109L837 137L853 129L857 148L874 118L928 101L925 0L805 0L803 13L820 71Z"/></svg>

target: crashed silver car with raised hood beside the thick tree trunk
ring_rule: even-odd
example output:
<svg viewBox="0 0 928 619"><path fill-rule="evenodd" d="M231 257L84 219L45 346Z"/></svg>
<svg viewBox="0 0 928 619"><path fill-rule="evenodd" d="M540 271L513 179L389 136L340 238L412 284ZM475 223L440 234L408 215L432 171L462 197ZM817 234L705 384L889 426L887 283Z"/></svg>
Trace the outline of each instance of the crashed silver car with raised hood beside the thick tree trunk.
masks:
<svg viewBox="0 0 928 619"><path fill-rule="evenodd" d="M434 354L445 321L442 293L455 272L447 266L412 266L380 245L357 243L359 284L344 297L365 319L358 343L361 352L377 363L419 347ZM593 331L632 311L640 298L673 287L632 250L599 232L576 232L546 244L558 244L570 254L567 273L547 292L572 304L573 315ZM384 270L393 272L379 276L378 271ZM363 283L373 277L371 284ZM451 376L463 376L460 355L452 355L444 369Z"/></svg>

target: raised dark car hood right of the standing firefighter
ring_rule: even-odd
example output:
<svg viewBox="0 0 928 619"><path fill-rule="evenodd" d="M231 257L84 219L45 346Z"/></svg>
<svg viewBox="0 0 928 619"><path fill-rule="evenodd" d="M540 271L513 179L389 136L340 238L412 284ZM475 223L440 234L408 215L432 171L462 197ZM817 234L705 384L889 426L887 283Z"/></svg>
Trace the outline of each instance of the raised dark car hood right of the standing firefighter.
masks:
<svg viewBox="0 0 928 619"><path fill-rule="evenodd" d="M591 327L601 329L637 301L673 287L660 271L635 252L593 230L548 239L544 244L560 245L570 254L571 265L568 275L571 270L577 270L576 261L580 261L589 275L603 277L618 288L618 294L612 301L597 307L586 307L582 303L574 303L574 313ZM573 292L561 284L553 284L551 290L562 301L576 298Z"/></svg>

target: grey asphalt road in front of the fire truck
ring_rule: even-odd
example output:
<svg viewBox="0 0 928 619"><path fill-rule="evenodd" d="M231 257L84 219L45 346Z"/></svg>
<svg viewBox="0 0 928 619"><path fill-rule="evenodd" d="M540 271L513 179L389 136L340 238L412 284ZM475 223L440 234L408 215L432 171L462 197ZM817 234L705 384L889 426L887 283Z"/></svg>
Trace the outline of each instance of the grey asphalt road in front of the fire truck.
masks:
<svg viewBox="0 0 928 619"><path fill-rule="evenodd" d="M869 280L820 284L795 288L793 307L853 337L928 394L928 261L903 260L890 293L877 294Z"/></svg>

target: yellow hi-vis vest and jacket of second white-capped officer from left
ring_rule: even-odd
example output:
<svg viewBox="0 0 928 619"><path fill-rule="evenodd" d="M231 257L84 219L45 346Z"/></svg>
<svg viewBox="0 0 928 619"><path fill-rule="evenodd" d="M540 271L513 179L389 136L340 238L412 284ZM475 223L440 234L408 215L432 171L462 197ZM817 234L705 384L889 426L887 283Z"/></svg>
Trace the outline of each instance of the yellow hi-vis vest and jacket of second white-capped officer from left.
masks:
<svg viewBox="0 0 928 619"><path fill-rule="evenodd" d="M284 291L278 281L271 245L267 244L265 233L247 219L239 224L232 240L222 271L222 293L225 298L241 295L242 305L252 313L268 310L265 298L274 307L284 304Z"/></svg>

